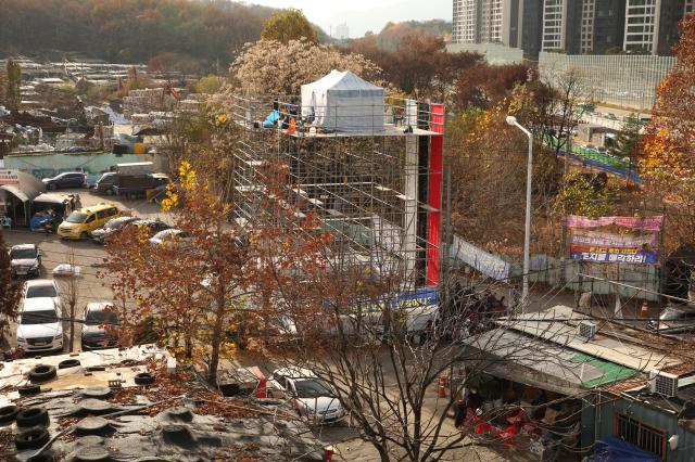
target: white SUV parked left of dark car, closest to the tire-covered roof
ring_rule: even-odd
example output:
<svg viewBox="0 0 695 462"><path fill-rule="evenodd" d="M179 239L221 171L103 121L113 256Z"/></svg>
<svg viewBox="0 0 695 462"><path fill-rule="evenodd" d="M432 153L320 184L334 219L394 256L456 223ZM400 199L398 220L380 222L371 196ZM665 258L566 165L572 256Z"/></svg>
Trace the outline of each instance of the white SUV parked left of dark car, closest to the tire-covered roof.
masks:
<svg viewBox="0 0 695 462"><path fill-rule="evenodd" d="M28 352L63 349L63 323L58 307L52 297L24 300L17 322L18 348Z"/></svg>

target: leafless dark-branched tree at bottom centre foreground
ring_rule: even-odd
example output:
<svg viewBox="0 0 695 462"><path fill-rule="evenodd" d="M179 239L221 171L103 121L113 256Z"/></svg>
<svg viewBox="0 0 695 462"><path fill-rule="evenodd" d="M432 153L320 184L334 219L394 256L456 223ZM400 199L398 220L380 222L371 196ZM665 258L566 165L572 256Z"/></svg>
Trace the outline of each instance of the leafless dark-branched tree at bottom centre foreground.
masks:
<svg viewBox="0 0 695 462"><path fill-rule="evenodd" d="M382 461L435 461L469 446L504 447L509 438L492 425L482 433L475 425L454 426L450 413L460 412L464 388L500 364L545 361L563 368L549 346L510 335L513 318L495 319L504 313L493 296L502 287L496 281L466 286L451 275L414 299L415 274L408 274L405 261L393 253L381 253L369 270L352 265L348 253L337 257L333 251L326 257L330 265L325 279L304 287L323 294L320 309L294 317L296 333L286 335L269 356L275 363L309 370L327 382L359 437ZM452 373L459 370L466 373ZM435 393L443 376L451 389L446 397ZM481 409L477 419L492 421L513 409L519 410Z"/></svg>

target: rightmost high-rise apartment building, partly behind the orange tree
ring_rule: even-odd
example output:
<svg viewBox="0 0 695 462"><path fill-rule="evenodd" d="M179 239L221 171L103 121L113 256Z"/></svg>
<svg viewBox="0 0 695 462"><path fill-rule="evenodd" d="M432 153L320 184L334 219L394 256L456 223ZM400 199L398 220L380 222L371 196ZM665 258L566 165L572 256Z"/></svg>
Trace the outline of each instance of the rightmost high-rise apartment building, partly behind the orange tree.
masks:
<svg viewBox="0 0 695 462"><path fill-rule="evenodd" d="M623 49L670 54L671 47L678 41L678 23L686 7L684 0L626 0Z"/></svg>

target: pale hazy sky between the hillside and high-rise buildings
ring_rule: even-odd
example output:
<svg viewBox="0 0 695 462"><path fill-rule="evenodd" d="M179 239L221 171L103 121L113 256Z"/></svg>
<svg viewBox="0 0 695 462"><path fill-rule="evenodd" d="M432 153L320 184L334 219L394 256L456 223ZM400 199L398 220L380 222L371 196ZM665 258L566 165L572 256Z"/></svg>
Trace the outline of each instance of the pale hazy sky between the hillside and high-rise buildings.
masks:
<svg viewBox="0 0 695 462"><path fill-rule="evenodd" d="M408 20L452 20L452 0L247 0L274 8L296 8L306 17L330 33L341 23L348 24L351 37L367 30L378 33L389 22Z"/></svg>

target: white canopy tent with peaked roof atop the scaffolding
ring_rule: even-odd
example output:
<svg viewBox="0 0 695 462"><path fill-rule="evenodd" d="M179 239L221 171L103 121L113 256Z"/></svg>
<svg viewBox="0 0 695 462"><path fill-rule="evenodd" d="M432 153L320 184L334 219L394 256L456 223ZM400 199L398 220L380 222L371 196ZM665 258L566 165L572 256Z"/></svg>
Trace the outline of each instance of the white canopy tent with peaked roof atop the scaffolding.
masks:
<svg viewBox="0 0 695 462"><path fill-rule="evenodd" d="M384 91L352 72L331 70L302 86L302 116L325 130L383 131Z"/></svg>

